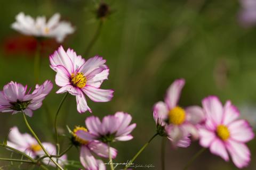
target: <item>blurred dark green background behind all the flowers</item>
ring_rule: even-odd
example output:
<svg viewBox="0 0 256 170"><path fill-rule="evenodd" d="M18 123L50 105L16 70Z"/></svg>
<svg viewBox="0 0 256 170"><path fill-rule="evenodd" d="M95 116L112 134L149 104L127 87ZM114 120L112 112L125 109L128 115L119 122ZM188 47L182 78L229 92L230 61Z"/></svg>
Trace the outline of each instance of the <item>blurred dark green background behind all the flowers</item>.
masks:
<svg viewBox="0 0 256 170"><path fill-rule="evenodd" d="M73 48L84 58L103 56L110 68L109 80L102 84L103 89L115 89L113 100L108 103L88 101L93 115L103 117L124 111L133 116L137 128L132 132L134 139L116 142L118 149L114 162L122 163L139 150L155 133L152 107L163 100L165 90L177 78L185 78L180 105L201 105L208 95L217 95L222 102L230 99L241 110L244 118L255 127L256 106L256 27L244 29L238 24L239 2L221 0L188 1L105 1L111 14L104 19L100 36L90 54L84 56L99 25L95 10L100 1L92 0L11 0L1 1L0 20L0 87L7 82L17 81L34 87L34 53L26 50L13 50L15 43L26 38L10 28L15 15L23 11L33 17L46 15L47 18L59 12L63 20L70 21L76 31L62 43L63 47ZM19 40L16 38L18 37ZM20 40L21 39L21 40ZM10 43L11 42L11 43ZM11 44L11 45L10 45ZM14 44L14 45L13 45ZM50 45L49 45L50 44ZM53 44L53 45L52 45ZM16 44L17 45L17 44ZM46 43L41 53L41 75L39 83L46 79L54 82L55 72L49 67L49 55L57 49L56 43ZM53 118L63 95L55 94L54 88L46 97L45 106L29 118L31 126L42 141L54 142ZM70 128L84 125L90 113L79 114L75 97L69 95L59 117L59 130L67 134ZM18 126L22 133L28 132L21 114L1 115L0 140L4 140L12 126ZM62 149L69 140L61 137ZM153 164L151 168L161 169L160 145L157 137L135 161L137 164ZM195 141L187 149L172 149L166 146L166 169L182 169L190 157L201 147ZM256 141L248 143L252 161L245 169L256 169ZM0 157L10 157L9 151L0 148ZM79 160L79 151L72 148L69 160ZM19 157L13 155L13 157ZM105 159L105 162L108 160ZM2 169L10 167L9 162L0 162ZM21 165L21 169L29 169ZM36 169L31 167L31 169ZM109 167L107 167L109 168ZM119 166L117 169L121 168ZM69 167L68 169L77 169ZM226 163L208 150L189 169L236 169L233 163Z"/></svg>

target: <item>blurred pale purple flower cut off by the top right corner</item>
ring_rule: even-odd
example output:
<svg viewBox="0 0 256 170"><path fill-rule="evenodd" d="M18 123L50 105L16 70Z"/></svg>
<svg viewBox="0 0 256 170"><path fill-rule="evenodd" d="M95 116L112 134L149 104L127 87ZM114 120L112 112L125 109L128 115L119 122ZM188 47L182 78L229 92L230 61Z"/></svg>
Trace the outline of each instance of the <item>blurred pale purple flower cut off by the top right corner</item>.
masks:
<svg viewBox="0 0 256 170"><path fill-rule="evenodd" d="M241 10L238 19L243 27L250 27L256 24L256 1L240 0Z"/></svg>

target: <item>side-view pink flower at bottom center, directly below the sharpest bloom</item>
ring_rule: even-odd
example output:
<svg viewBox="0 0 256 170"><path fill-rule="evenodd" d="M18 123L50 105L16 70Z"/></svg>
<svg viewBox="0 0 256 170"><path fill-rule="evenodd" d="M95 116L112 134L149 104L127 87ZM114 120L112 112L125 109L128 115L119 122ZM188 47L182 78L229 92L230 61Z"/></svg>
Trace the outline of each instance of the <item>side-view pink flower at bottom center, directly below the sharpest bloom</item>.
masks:
<svg viewBox="0 0 256 170"><path fill-rule="evenodd" d="M132 116L127 113L117 112L115 115L107 115L100 122L99 117L90 116L86 118L85 124L93 138L102 142L127 141L133 137L130 134L136 127Z"/></svg>

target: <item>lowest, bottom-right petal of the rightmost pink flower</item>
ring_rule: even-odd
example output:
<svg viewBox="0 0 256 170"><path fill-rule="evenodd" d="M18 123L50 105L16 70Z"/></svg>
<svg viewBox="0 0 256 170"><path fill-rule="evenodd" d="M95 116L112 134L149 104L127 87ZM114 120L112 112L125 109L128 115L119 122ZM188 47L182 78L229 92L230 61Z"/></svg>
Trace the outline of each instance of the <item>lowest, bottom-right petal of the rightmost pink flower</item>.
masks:
<svg viewBox="0 0 256 170"><path fill-rule="evenodd" d="M227 149L234 164L238 168L243 168L249 165L251 154L244 143L228 140Z"/></svg>

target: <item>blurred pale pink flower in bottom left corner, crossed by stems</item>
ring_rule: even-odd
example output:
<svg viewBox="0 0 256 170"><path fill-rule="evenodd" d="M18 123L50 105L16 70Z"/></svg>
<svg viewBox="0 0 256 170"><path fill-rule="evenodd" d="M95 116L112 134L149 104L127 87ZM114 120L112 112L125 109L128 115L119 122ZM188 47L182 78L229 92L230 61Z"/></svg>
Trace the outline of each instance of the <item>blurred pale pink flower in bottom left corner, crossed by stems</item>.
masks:
<svg viewBox="0 0 256 170"><path fill-rule="evenodd" d="M14 126L11 128L10 133L9 133L9 141L7 141L7 146L10 146L12 148L15 148L19 151L25 152L28 156L31 158L37 158L37 157L42 157L45 155L43 149L41 148L40 145L38 145L38 142L36 141L35 138L31 137L30 134L28 133L20 133L19 129ZM52 143L49 142L42 142L43 147L49 152L50 155L56 155L56 147L52 145ZM56 158L53 158L56 159ZM67 155L63 155L62 157L59 158L59 163L61 165L64 165L67 160ZM50 161L50 158L44 158L43 163L46 165L51 165L55 166Z"/></svg>

